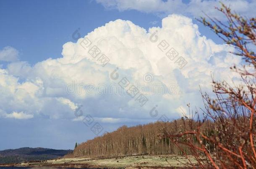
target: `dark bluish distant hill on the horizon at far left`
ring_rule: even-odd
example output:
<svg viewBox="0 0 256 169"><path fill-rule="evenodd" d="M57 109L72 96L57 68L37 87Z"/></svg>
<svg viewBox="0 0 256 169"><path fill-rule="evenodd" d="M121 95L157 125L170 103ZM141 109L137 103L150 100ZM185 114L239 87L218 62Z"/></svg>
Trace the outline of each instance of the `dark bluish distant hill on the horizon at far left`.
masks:
<svg viewBox="0 0 256 169"><path fill-rule="evenodd" d="M55 150L45 148L8 149L0 151L0 164L21 163L25 161L43 161L62 157L73 150Z"/></svg>

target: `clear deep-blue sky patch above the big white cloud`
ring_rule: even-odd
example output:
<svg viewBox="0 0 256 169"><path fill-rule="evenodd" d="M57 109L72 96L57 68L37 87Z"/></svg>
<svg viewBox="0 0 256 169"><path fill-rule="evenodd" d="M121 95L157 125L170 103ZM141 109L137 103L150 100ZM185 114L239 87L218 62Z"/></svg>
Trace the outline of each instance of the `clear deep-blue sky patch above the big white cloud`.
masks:
<svg viewBox="0 0 256 169"><path fill-rule="evenodd" d="M105 9L93 0L2 0L0 2L0 48L12 46L21 61L35 64L47 58L61 57L62 45L75 41L72 34L79 29L81 36L111 20L131 20L145 29L161 26L154 13L137 10L119 12ZM157 21L155 25L152 22ZM202 26L203 35L221 43L219 38Z"/></svg>

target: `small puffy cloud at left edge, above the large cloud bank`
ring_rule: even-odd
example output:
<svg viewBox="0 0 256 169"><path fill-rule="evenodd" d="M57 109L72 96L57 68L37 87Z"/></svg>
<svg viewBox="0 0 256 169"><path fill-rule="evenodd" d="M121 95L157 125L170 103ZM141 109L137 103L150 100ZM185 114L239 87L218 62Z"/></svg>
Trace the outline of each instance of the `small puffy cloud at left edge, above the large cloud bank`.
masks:
<svg viewBox="0 0 256 169"><path fill-rule="evenodd" d="M18 61L18 50L11 46L6 46L0 50L0 61Z"/></svg>

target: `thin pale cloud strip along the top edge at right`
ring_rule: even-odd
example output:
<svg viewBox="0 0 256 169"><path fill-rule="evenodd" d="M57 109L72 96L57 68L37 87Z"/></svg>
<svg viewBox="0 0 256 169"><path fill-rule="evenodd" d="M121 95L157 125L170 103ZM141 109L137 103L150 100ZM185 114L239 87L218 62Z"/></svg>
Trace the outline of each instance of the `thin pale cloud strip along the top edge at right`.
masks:
<svg viewBox="0 0 256 169"><path fill-rule="evenodd" d="M189 3L184 3L182 0L96 0L107 9L138 10L145 13L156 13L157 15L169 15L172 13L200 17L204 15L202 11L211 17L222 20L222 15L214 9L219 7L218 0L190 0ZM246 0L225 0L222 1L232 10L242 15L254 17L253 9L256 8L256 1ZM250 12L249 12L250 11Z"/></svg>

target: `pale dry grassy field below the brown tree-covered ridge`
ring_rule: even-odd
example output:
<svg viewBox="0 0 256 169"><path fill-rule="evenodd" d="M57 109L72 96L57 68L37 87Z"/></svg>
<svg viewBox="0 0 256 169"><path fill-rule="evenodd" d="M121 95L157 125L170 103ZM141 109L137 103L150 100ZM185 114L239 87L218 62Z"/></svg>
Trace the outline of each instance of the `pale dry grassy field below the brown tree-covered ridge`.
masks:
<svg viewBox="0 0 256 169"><path fill-rule="evenodd" d="M188 157L196 164L196 160ZM69 158L56 159L44 162L13 164L12 166L26 167L67 167L67 168L112 168L112 169L139 169L139 168L183 168L188 159L183 156L128 156L115 159ZM1 166L1 165L0 165Z"/></svg>

